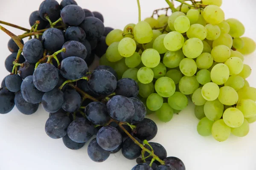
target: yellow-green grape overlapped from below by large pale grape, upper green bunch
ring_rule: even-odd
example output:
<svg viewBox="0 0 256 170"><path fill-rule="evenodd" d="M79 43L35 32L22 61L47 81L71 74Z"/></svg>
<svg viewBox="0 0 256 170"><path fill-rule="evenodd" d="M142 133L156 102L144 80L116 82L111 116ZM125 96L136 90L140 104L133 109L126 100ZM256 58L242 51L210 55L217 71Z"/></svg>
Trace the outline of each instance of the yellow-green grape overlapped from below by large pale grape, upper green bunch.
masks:
<svg viewBox="0 0 256 170"><path fill-rule="evenodd" d="M207 37L207 29L201 24L192 24L186 32L188 38L204 40Z"/></svg>

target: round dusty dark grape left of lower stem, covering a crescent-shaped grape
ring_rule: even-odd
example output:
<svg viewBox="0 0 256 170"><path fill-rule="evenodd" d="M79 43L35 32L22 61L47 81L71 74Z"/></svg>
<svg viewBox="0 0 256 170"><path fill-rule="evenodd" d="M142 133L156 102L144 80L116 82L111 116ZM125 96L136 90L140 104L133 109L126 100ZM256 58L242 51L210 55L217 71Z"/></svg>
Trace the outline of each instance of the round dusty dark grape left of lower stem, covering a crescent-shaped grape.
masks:
<svg viewBox="0 0 256 170"><path fill-rule="evenodd" d="M102 127L96 136L97 143L104 150L114 150L122 143L121 133L112 126Z"/></svg>

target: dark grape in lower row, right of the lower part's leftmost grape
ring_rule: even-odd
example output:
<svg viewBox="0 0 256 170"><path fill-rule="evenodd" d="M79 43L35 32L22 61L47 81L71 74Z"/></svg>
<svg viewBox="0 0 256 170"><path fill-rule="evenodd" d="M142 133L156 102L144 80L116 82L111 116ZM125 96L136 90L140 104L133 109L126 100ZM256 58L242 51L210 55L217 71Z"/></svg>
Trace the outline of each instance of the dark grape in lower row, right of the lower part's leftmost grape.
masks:
<svg viewBox="0 0 256 170"><path fill-rule="evenodd" d="M67 135L74 142L84 143L93 137L93 130L93 125L87 119L79 118L70 123Z"/></svg>

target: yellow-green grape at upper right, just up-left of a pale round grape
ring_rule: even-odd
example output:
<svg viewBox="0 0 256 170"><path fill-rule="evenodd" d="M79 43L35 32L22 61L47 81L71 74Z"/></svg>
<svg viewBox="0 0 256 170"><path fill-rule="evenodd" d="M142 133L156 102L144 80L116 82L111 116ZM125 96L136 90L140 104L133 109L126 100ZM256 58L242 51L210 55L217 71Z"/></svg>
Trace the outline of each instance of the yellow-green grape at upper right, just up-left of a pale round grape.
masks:
<svg viewBox="0 0 256 170"><path fill-rule="evenodd" d="M215 62L225 62L230 58L230 48L226 45L218 45L212 48L211 54Z"/></svg>

